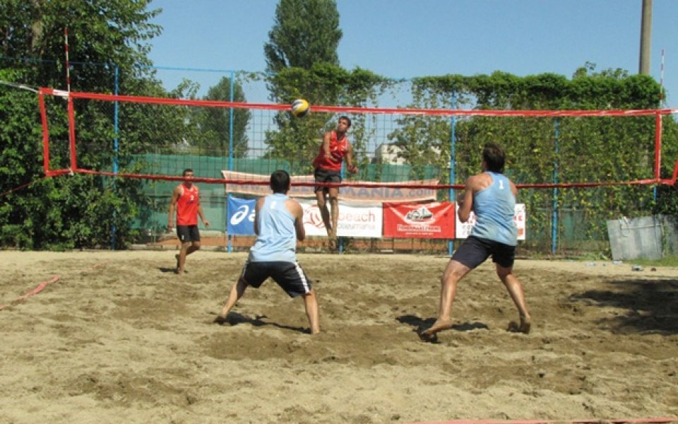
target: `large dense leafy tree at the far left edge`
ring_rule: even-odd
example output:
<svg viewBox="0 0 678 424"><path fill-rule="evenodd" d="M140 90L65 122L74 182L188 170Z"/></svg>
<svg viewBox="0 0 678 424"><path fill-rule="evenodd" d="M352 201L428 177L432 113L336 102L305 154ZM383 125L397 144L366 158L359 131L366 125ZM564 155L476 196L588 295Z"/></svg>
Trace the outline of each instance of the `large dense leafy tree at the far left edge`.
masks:
<svg viewBox="0 0 678 424"><path fill-rule="evenodd" d="M147 40L160 33L149 23L159 10L148 11L149 1L99 0L0 0L0 54L5 59L0 79L28 86L66 88L64 28L69 27L72 61L88 62L71 69L71 88L110 93L114 68L119 71L121 93L157 93L160 84L148 71ZM23 57L40 61L24 61ZM66 139L65 108L58 99L50 104L50 136ZM122 134L136 134L119 152L121 166L143 143L148 131L171 136L172 127L135 107L121 107ZM114 155L113 115L95 102L78 102L78 165L102 170ZM117 230L115 247L124 247L133 235L131 223L143 199L141 182L93 175L42 179L40 114L33 93L0 90L0 189L27 188L6 195L0 208L0 243L27 249L108 247L112 228ZM156 123L157 122L157 123ZM125 131L129 131L129 134ZM54 148L51 159L59 163L67 151Z"/></svg>

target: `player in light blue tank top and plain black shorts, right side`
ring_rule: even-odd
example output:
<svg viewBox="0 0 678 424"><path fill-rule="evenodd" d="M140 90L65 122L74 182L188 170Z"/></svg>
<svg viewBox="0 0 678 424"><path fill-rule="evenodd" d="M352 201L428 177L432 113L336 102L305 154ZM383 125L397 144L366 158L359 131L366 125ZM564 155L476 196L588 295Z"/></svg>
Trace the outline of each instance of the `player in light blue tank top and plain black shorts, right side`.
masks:
<svg viewBox="0 0 678 424"><path fill-rule="evenodd" d="M471 211L476 224L471 235L453 254L441 278L438 319L420 336L424 341L434 340L436 333L452 326L450 318L457 283L469 271L482 264L489 256L496 264L496 273L509 290L518 308L520 324L512 322L510 331L529 333L532 319L525 306L525 295L518 278L513 275L516 256L517 229L513 223L516 205L516 185L504 177L504 149L496 143L487 143L482 152L482 171L466 180L459 220L465 223Z"/></svg>

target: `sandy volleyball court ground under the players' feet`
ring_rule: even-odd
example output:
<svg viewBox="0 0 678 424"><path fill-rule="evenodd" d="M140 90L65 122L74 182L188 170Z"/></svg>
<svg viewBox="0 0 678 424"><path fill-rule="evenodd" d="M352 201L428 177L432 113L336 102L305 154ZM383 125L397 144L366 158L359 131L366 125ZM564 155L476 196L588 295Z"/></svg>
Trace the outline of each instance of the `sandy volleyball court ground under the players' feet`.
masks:
<svg viewBox="0 0 678 424"><path fill-rule="evenodd" d="M0 423L678 417L678 268L518 261L523 335L486 263L424 343L447 257L300 254L310 336L272 281L215 324L246 255L197 252L179 277L175 253L0 252Z"/></svg>

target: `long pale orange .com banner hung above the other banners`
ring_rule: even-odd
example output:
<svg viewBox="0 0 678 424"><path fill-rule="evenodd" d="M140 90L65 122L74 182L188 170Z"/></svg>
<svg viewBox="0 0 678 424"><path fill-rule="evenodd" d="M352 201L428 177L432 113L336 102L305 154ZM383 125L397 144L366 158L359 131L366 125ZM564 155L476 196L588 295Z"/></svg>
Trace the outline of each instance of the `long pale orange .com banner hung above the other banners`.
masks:
<svg viewBox="0 0 678 424"><path fill-rule="evenodd" d="M266 196L270 194L270 175L249 174L247 172L222 171L225 179L237 181L266 182L266 184L225 184L226 193L254 194ZM292 188L287 195L290 197L315 197L312 186L295 186L295 183L313 183L313 175L292 175ZM343 201L374 203L374 202L415 202L431 201L436 199L434 189L408 188L400 189L391 187L396 183L376 183L355 181L356 184L364 184L366 187L340 187L339 196ZM437 179L422 179L417 181L400 182L399 184L438 184Z"/></svg>

